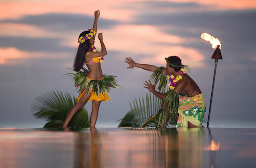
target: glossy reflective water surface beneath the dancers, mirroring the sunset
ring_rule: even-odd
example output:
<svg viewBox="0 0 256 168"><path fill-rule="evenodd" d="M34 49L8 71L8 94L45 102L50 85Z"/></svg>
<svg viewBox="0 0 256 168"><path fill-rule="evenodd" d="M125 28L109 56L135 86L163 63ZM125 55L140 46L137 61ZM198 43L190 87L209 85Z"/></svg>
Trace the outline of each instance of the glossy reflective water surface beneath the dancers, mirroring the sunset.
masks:
<svg viewBox="0 0 256 168"><path fill-rule="evenodd" d="M256 129L0 128L0 168L229 167L256 167Z"/></svg>

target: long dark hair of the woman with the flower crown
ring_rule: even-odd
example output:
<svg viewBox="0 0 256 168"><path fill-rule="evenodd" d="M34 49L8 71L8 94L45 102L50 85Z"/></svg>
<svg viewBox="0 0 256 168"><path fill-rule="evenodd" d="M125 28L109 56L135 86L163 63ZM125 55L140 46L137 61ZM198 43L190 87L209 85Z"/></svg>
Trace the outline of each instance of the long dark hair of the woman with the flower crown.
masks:
<svg viewBox="0 0 256 168"><path fill-rule="evenodd" d="M84 37L88 33L89 33L89 31L81 32L79 37L81 37L81 36ZM89 51L90 48L91 48L90 40L85 40L85 42L79 44L79 47L77 49L77 53L75 56L75 60L74 60L74 65L73 65L73 68L75 71L79 71L84 66L85 54L86 54L86 52Z"/></svg>

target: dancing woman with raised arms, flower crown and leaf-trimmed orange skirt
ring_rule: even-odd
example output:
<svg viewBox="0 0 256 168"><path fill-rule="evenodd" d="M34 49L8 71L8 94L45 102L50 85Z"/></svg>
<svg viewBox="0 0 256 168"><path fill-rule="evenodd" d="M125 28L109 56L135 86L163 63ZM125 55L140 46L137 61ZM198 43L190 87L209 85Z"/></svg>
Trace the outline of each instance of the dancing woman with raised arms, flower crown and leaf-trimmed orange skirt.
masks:
<svg viewBox="0 0 256 168"><path fill-rule="evenodd" d="M77 103L69 110L66 119L61 126L65 128L68 126L70 120L75 115L75 113L80 110L87 101L92 101L92 113L90 118L90 127L95 127L95 123L98 117L98 109L100 103L102 101L109 100L108 89L109 86L112 86L112 83L115 84L115 79L112 76L107 76L108 80L104 78L102 75L101 64L103 56L107 54L107 50L103 43L102 33L98 33L98 39L100 41L102 52L98 52L94 47L94 40L97 31L97 23L98 17L100 15L99 10L95 11L95 21L93 24L93 29L89 29L88 31L84 31L79 35L78 42L79 48L77 50L77 54L74 61L74 70L77 73L74 74L75 86L79 87L79 97ZM80 72L79 70L86 63L89 71ZM84 69L84 68L83 68ZM70 73L72 74L72 73ZM111 82L109 82L109 77L111 78ZM77 79L79 78L79 82L85 81L84 83L78 83ZM99 86L100 85L100 86ZM103 87L103 90L102 90ZM96 89L95 89L96 88ZM97 90L99 88L99 90Z"/></svg>

